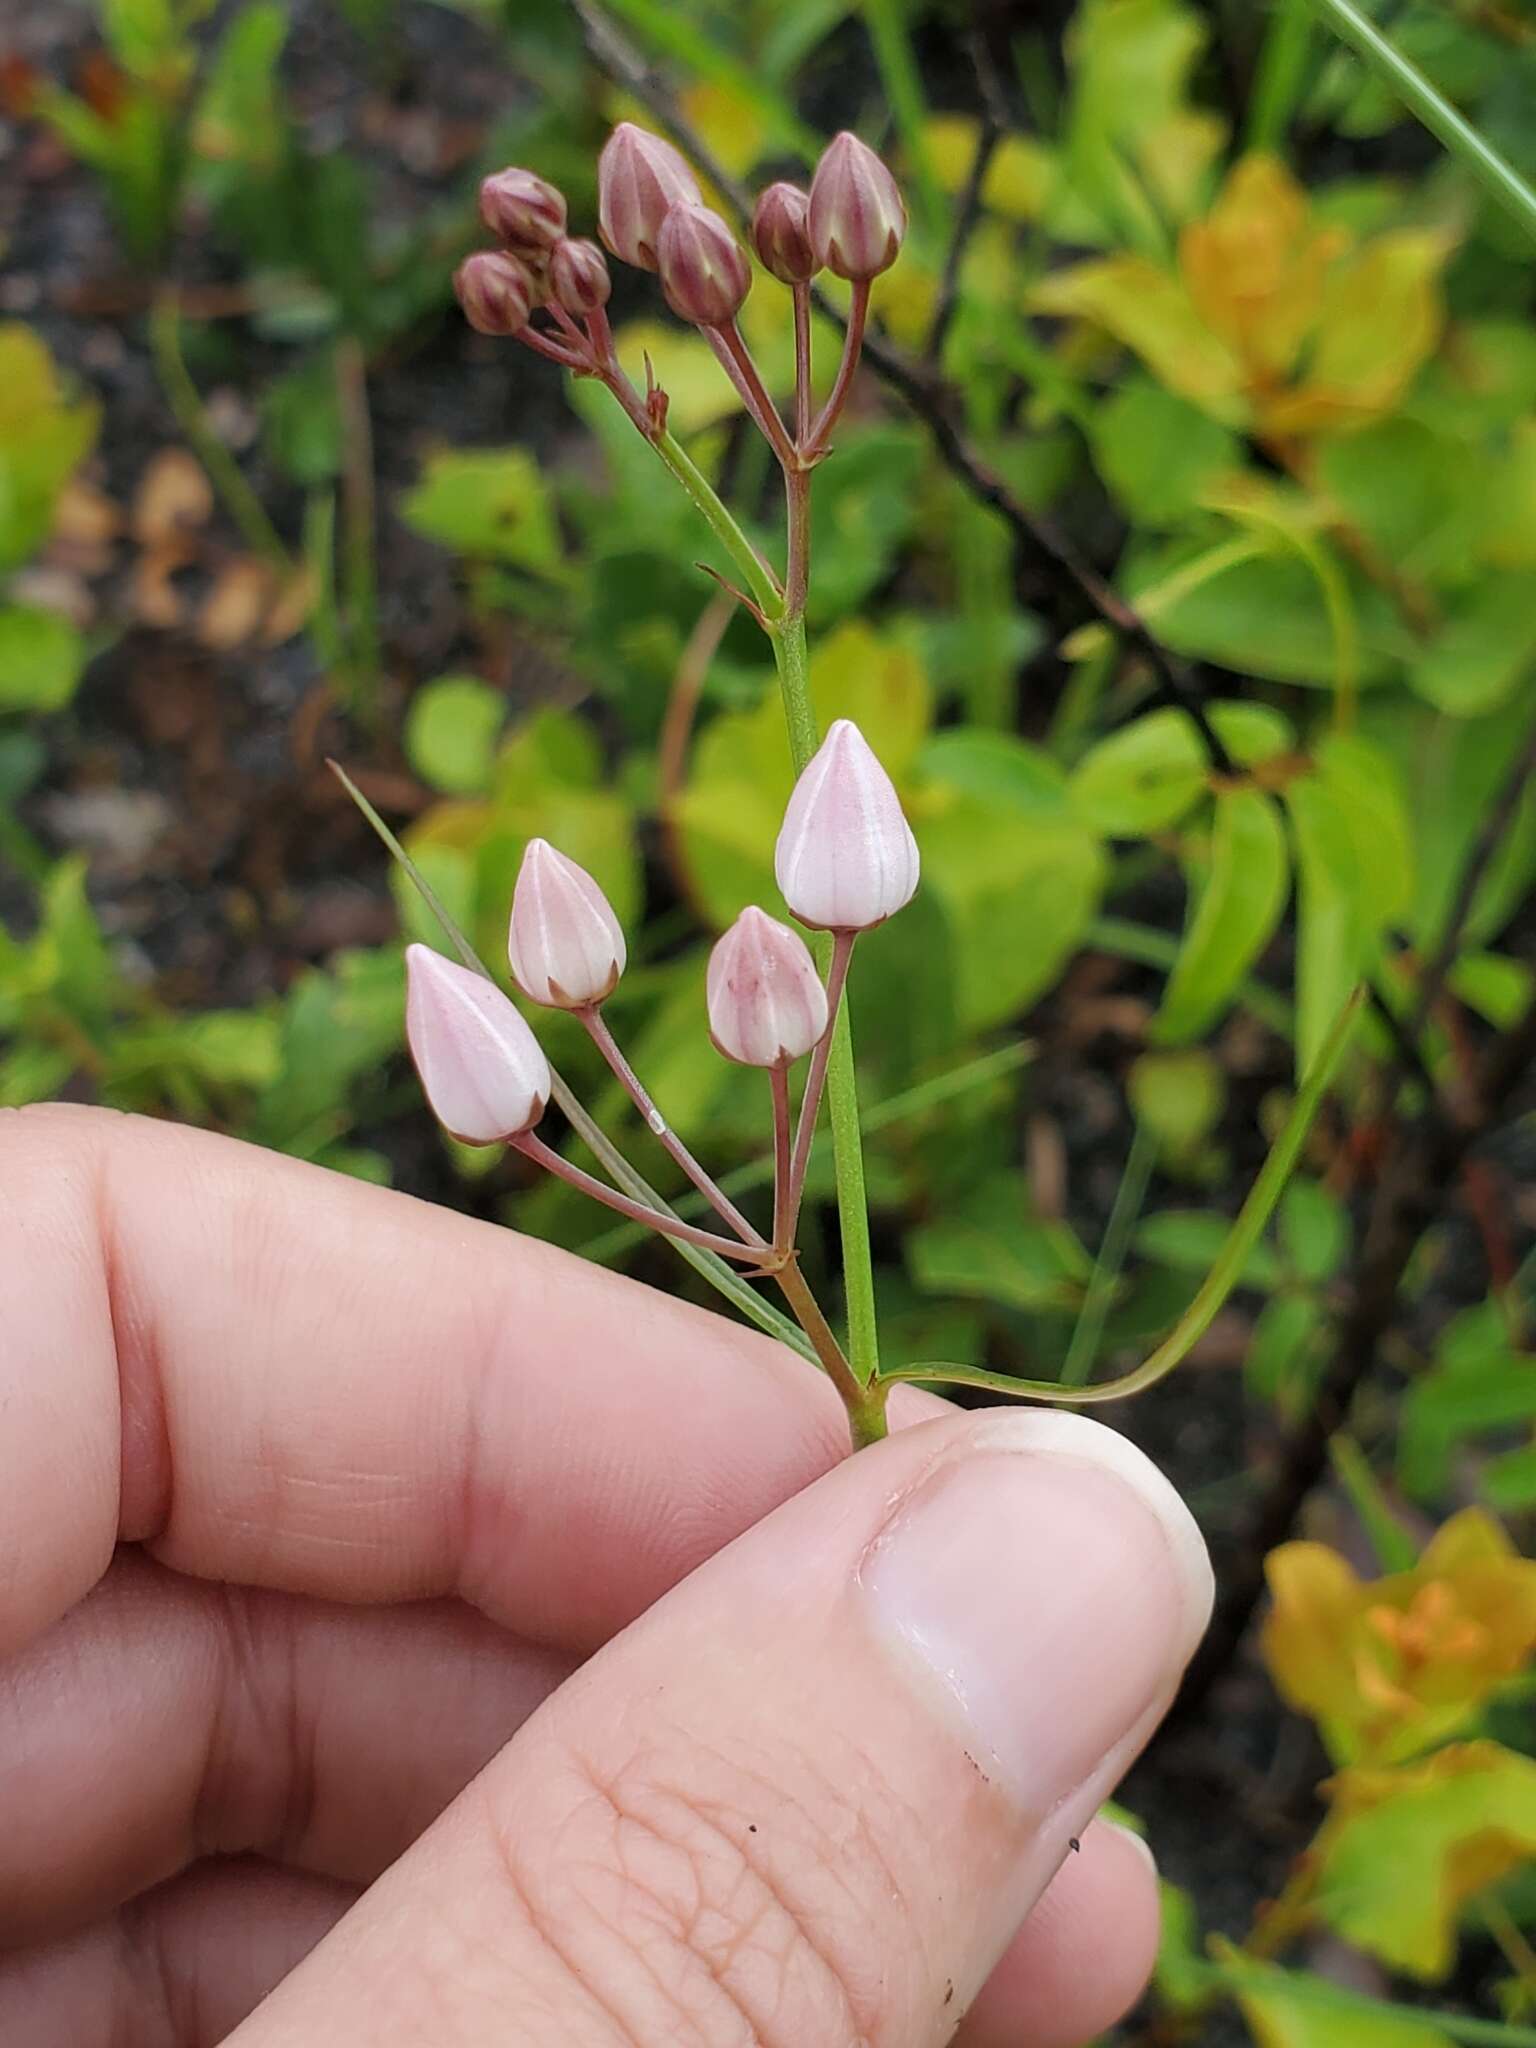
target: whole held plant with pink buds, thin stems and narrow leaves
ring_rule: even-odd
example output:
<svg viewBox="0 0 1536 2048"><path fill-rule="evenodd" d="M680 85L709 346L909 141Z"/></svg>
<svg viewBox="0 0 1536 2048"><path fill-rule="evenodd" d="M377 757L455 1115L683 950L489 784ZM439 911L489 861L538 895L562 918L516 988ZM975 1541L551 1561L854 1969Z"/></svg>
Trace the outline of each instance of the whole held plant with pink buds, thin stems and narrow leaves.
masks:
<svg viewBox="0 0 1536 2048"><path fill-rule="evenodd" d="M512 979L530 1004L565 1010L588 1030L649 1133L713 1208L715 1223L702 1227L684 1221L606 1141L551 1071L522 1012L457 940L446 920L444 928L457 940L461 961L422 944L412 944L406 952L406 1032L434 1114L461 1143L512 1147L596 1202L674 1239L721 1292L821 1366L848 1409L854 1448L885 1436L891 1386L901 1380L958 1382L1001 1395L1073 1403L1116 1399L1151 1384L1208 1327L1262 1235L1337 1067L1354 1008L1339 1018L1307 1075L1194 1303L1141 1366L1092 1386L1020 1380L958 1362L881 1370L846 991L858 936L899 915L911 901L920 885L920 860L895 786L858 727L840 719L825 737L817 729L807 676L805 608L811 588L815 471L831 453L858 371L872 285L895 264L907 231L897 180L872 150L844 133L823 152L809 193L778 182L756 203L752 244L758 262L791 297L791 420L774 403L737 326L754 283L748 250L705 203L694 170L672 143L633 123L621 123L612 131L598 164L602 248L567 233L565 197L532 170L510 168L487 178L479 209L498 246L469 256L455 276L459 303L471 326L481 334L522 342L573 377L596 379L692 498L735 563L739 584L727 588L772 647L799 776L778 834L774 874L784 903L811 940L807 944L791 926L748 905L719 938L709 961L707 1028L717 1053L768 1075L772 1219L758 1223L731 1202L670 1128L614 1040L604 1020L604 1001L625 973L623 928L598 883L545 840L528 844L516 879L508 930ZM750 422L772 449L784 483L782 571L748 539L670 432L668 393L657 385L649 360L643 391L618 362L606 313L612 281L604 248L608 256L657 276L668 307L707 338ZM850 295L836 373L817 403L811 309L813 285L823 270L846 281ZM352 795L358 797L356 791ZM365 799L358 797L358 803ZM367 803L365 809L375 827L385 831ZM403 860L387 831L385 838ZM432 901L414 870L412 879ZM913 958L911 973L926 971ZM799 1063L807 1065L797 1110L791 1075ZM551 1098L594 1149L610 1180L573 1165L539 1135ZM831 1124L842 1227L844 1335L834 1329L801 1272L797 1249L823 1104ZM778 1286L793 1321L758 1294L758 1280Z"/></svg>

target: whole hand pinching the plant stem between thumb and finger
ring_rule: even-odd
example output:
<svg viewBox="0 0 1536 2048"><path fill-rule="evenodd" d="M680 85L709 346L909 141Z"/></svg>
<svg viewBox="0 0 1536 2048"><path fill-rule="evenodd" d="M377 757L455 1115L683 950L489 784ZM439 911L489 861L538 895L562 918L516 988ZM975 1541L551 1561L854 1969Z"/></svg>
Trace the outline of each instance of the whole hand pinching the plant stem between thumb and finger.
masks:
<svg viewBox="0 0 1536 2048"><path fill-rule="evenodd" d="M1065 2048L1137 1995L1094 1812L1210 1577L1112 1432L913 1399L840 1462L766 1339L92 1110L0 1120L0 2040Z"/></svg>

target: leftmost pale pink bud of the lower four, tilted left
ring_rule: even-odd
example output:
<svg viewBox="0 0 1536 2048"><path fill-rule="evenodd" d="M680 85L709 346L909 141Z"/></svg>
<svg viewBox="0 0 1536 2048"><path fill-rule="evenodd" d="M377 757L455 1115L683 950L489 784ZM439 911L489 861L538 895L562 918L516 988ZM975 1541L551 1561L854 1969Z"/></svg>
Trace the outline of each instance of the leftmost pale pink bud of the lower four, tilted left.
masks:
<svg viewBox="0 0 1536 2048"><path fill-rule="evenodd" d="M406 946L406 1038L434 1116L461 1143L498 1145L545 1114L535 1034L494 981L430 946Z"/></svg>

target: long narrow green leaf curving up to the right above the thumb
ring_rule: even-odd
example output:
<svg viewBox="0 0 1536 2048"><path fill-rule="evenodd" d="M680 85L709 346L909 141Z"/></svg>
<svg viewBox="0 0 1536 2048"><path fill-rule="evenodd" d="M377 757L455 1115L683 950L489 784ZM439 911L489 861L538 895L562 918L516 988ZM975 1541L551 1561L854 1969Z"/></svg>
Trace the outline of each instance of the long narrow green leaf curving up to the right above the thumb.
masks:
<svg viewBox="0 0 1536 2048"><path fill-rule="evenodd" d="M1313 1128L1313 1118L1323 1106L1323 1096L1337 1073L1350 1038L1354 1036L1362 1001L1364 989L1356 989L1339 1012L1333 1030L1327 1034L1317 1059L1313 1061L1313 1071L1303 1081L1300 1092L1290 1106L1290 1116L1286 1116L1280 1137L1270 1147L1270 1157L1260 1167L1260 1176L1249 1188L1247 1200L1237 1212L1237 1221L1217 1253L1214 1266L1200 1282L1190 1307L1178 1319L1169 1335L1163 1337L1151 1358L1143 1360L1143 1364L1139 1364L1133 1372L1122 1372L1118 1380L1102 1380L1098 1386L1063 1386L1061 1380L1014 1380L1006 1372L987 1372L983 1366L956 1364L895 1366L891 1372L881 1374L881 1378L934 1380L950 1386L985 1386L989 1393L997 1395L1014 1395L1026 1401L1065 1401L1075 1407L1087 1407L1098 1401L1124 1401L1126 1395L1137 1395L1145 1386L1155 1386L1157 1380L1165 1378L1174 1366L1188 1358L1200 1337L1210 1329L1223 1303L1237 1286L1253 1245L1257 1245L1260 1237L1264 1237L1266 1225L1274 1214L1274 1204L1284 1194L1292 1167L1296 1165L1300 1149L1307 1143L1307 1133Z"/></svg>

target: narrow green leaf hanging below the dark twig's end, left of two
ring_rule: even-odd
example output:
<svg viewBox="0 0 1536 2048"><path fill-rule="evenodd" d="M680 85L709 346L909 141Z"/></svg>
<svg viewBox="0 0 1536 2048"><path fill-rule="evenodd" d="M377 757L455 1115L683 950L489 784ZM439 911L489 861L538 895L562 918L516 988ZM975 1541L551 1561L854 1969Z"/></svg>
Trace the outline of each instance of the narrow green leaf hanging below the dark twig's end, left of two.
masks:
<svg viewBox="0 0 1536 2048"><path fill-rule="evenodd" d="M1286 907L1290 858L1274 801L1255 788L1217 791L1210 868L1178 965L1153 1018L1153 1038L1198 1038L1227 1008Z"/></svg>

